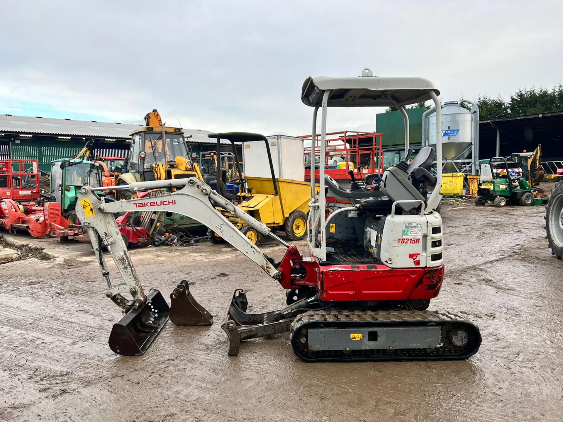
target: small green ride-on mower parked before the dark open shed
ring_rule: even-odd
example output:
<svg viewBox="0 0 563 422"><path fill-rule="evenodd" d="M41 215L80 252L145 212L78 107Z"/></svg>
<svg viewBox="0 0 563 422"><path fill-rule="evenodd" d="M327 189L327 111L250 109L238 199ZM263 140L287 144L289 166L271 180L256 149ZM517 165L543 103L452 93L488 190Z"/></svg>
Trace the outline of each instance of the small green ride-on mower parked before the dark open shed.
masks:
<svg viewBox="0 0 563 422"><path fill-rule="evenodd" d="M497 171L493 172L492 169ZM544 205L547 203L547 195L542 197L543 195L539 193L538 189L530 186L526 179L514 179L513 176L516 174L511 173L513 170L508 166L504 157L493 157L489 163L481 163L480 185L477 189L475 205L492 202L498 208L502 208L508 204Z"/></svg>

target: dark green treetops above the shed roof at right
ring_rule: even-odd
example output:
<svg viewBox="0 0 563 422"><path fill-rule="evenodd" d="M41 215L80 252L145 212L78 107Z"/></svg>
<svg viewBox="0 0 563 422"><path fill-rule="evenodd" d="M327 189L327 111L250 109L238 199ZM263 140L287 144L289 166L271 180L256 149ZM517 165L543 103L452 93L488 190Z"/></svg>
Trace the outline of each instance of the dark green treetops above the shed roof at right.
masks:
<svg viewBox="0 0 563 422"><path fill-rule="evenodd" d="M480 120L499 119L511 116L524 116L528 114L555 113L563 111L563 84L560 82L551 90L547 88L520 88L506 101L501 96L497 98L480 95L477 98ZM408 108L430 106L425 103ZM395 111L397 107L389 107L385 111Z"/></svg>

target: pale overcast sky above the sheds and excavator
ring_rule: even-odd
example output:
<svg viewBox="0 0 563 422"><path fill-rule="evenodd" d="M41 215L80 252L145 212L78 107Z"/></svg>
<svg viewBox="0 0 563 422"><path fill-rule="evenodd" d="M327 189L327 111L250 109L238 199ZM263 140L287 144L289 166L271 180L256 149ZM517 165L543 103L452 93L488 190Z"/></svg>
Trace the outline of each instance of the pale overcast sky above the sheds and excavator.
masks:
<svg viewBox="0 0 563 422"><path fill-rule="evenodd" d="M142 3L145 3L143 6ZM308 76L430 79L444 101L563 79L563 1L2 1L0 113L310 133ZM330 110L373 130L381 109Z"/></svg>

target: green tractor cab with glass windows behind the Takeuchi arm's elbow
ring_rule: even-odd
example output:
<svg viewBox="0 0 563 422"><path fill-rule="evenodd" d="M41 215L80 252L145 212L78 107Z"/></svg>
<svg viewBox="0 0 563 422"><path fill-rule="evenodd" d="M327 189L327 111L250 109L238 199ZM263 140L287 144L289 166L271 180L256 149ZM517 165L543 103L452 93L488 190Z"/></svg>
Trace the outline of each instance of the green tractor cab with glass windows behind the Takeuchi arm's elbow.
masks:
<svg viewBox="0 0 563 422"><path fill-rule="evenodd" d="M80 188L84 185L102 186L100 164L87 160L64 158L52 161L50 188L51 195L61 205L61 212L74 210Z"/></svg>

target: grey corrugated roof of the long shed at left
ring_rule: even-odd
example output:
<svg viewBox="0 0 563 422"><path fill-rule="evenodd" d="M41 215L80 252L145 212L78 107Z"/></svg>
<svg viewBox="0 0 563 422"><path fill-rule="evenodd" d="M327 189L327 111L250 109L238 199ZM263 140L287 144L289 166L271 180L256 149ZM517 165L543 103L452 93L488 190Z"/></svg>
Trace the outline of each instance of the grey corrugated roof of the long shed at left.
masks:
<svg viewBox="0 0 563 422"><path fill-rule="evenodd" d="M142 124L88 122L86 120L51 119L0 114L0 133L37 133L53 136L100 137L128 140L131 139L129 133L139 127L142 127ZM184 132L186 135L191 135L191 142L216 142L207 137L207 134L211 133L209 131L184 129ZM226 140L222 140L221 143L230 145L230 142Z"/></svg>

